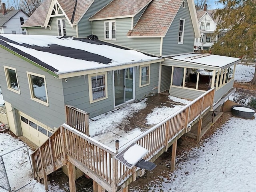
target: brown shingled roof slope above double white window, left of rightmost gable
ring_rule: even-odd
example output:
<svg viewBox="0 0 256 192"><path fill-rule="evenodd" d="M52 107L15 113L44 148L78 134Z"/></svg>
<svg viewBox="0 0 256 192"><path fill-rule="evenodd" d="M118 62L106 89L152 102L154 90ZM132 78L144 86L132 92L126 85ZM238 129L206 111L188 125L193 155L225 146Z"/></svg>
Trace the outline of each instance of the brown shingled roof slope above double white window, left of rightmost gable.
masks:
<svg viewBox="0 0 256 192"><path fill-rule="evenodd" d="M99 12L90 17L90 21L109 18L134 17L152 0L113 0Z"/></svg>

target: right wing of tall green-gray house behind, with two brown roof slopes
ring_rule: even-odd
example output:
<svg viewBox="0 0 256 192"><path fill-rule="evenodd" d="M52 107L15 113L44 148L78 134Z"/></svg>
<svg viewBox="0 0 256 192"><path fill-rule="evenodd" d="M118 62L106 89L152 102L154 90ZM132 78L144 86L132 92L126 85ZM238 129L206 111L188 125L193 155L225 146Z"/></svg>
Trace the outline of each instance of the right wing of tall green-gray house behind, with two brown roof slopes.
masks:
<svg viewBox="0 0 256 192"><path fill-rule="evenodd" d="M89 20L100 40L163 57L193 52L200 36L192 0L113 0Z"/></svg>

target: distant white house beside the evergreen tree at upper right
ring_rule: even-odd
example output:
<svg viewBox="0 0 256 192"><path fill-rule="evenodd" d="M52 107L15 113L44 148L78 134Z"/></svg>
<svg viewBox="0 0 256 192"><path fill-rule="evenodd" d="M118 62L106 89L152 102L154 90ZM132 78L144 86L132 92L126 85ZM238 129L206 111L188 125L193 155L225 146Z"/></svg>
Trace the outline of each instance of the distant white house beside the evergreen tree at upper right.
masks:
<svg viewBox="0 0 256 192"><path fill-rule="evenodd" d="M217 25L221 22L219 18L214 18L214 12L215 10L207 10L207 4L204 5L204 10L196 11L201 37L195 38L195 51L209 50L214 42L228 32L228 29L224 29L218 35L214 34Z"/></svg>

